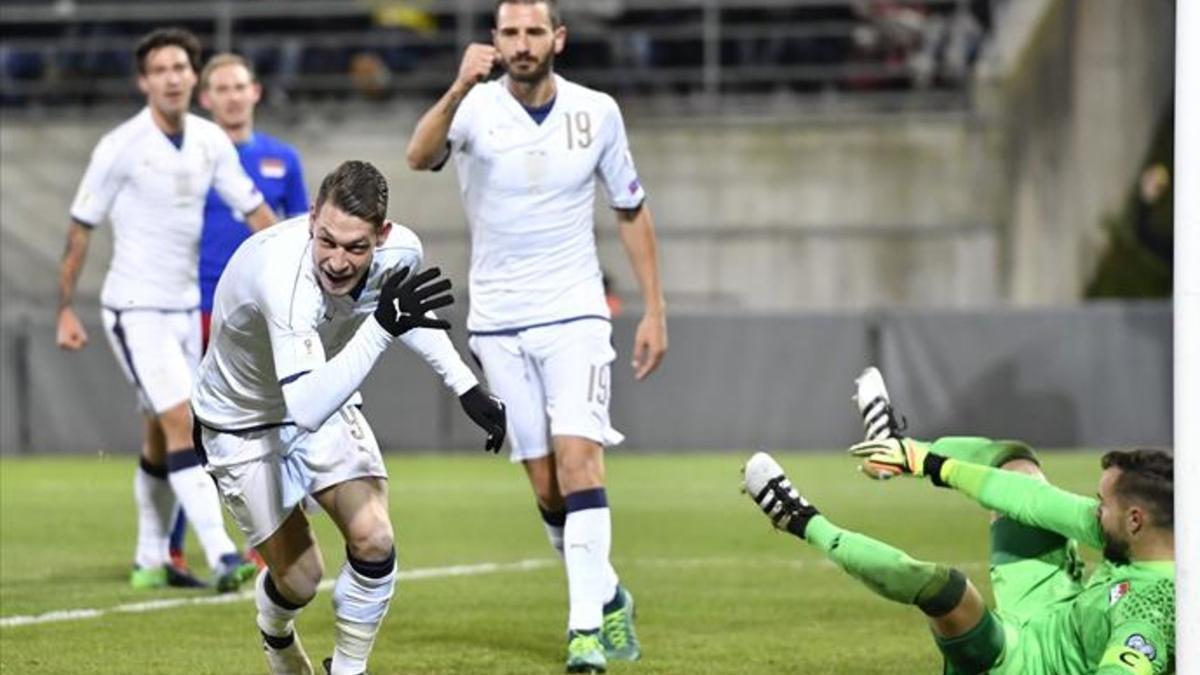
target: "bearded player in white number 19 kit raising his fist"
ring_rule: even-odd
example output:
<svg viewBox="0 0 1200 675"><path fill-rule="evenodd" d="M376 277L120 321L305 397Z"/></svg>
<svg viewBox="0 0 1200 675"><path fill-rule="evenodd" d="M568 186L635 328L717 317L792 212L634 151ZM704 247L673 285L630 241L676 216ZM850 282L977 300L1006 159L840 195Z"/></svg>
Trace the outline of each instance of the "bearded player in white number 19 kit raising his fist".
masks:
<svg viewBox="0 0 1200 675"><path fill-rule="evenodd" d="M566 28L553 0L499 0L492 44L472 44L408 145L414 169L454 156L472 229L470 348L510 406L511 456L524 466L551 544L566 565L566 669L636 659L634 599L608 561L604 448L612 327L593 203L604 185L646 305L638 380L667 348L654 221L611 96L554 73ZM486 82L494 66L505 74Z"/></svg>

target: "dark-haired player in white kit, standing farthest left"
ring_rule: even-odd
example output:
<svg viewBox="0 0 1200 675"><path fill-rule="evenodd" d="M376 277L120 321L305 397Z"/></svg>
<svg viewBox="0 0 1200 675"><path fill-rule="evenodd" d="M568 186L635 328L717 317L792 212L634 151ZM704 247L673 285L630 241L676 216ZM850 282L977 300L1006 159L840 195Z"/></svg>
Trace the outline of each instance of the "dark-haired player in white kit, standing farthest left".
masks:
<svg viewBox="0 0 1200 675"><path fill-rule="evenodd" d="M253 575L224 531L212 480L192 443L187 398L200 357L197 246L204 196L216 187L251 227L274 222L270 207L238 163L221 129L190 114L200 46L179 29L138 43L138 86L146 107L96 145L71 205L59 270L58 344L82 350L88 333L71 307L91 231L106 217L114 247L101 291L113 353L134 386L145 442L133 483L138 506L134 587L188 585L168 563L167 537L176 500L188 513L217 589Z"/></svg>

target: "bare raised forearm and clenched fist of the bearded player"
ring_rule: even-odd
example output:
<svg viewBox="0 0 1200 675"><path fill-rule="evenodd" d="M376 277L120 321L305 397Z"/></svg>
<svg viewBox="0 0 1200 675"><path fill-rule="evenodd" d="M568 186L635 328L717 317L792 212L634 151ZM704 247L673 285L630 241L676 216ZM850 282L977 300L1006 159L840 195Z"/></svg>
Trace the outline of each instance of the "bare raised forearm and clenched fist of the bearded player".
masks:
<svg viewBox="0 0 1200 675"><path fill-rule="evenodd" d="M414 171L440 168L446 159L446 139L450 136L450 124L458 112L458 106L473 86L484 82L499 60L499 54L491 44L474 43L463 52L458 65L458 76L442 98L426 110L408 139L406 159Z"/></svg>

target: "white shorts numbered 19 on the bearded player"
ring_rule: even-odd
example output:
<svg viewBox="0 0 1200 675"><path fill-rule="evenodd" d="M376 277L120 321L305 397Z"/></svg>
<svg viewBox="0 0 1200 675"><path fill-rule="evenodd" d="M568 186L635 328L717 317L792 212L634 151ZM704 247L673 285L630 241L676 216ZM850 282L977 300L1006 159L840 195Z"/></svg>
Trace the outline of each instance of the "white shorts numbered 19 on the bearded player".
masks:
<svg viewBox="0 0 1200 675"><path fill-rule="evenodd" d="M508 406L511 461L548 455L551 436L581 436L606 447L625 440L608 420L617 352L607 321L472 335L469 345L488 388Z"/></svg>

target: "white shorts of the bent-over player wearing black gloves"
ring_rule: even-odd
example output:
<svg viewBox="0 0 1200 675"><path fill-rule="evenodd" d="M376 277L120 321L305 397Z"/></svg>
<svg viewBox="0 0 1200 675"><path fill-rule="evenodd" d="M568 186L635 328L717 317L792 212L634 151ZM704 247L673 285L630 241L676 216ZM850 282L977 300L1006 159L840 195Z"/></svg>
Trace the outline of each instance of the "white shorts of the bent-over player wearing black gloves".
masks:
<svg viewBox="0 0 1200 675"><path fill-rule="evenodd" d="M293 424L242 432L202 426L200 443L221 500L251 546L274 534L305 496L355 478L388 478L374 432L353 405L312 432ZM254 459L222 464L221 456Z"/></svg>

